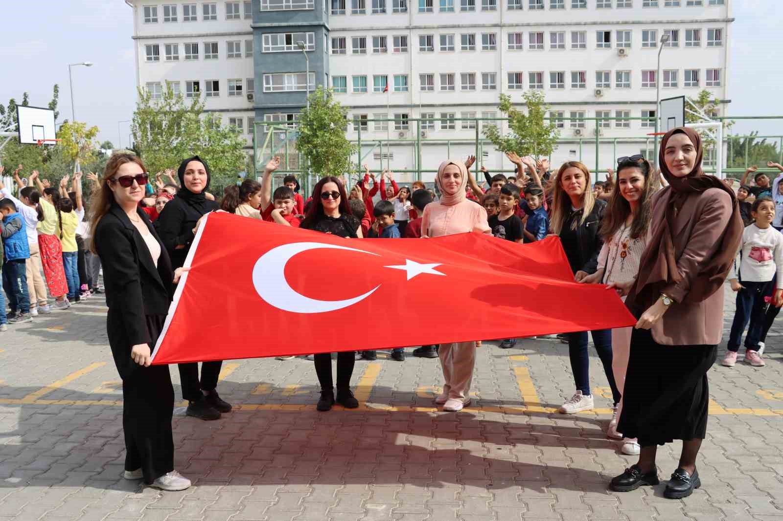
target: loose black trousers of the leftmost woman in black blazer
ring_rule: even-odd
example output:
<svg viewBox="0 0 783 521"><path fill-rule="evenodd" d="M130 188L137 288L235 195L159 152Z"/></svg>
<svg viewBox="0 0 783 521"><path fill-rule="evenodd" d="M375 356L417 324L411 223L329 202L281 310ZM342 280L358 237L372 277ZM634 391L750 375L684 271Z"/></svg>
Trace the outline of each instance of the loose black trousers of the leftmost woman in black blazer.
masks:
<svg viewBox="0 0 783 521"><path fill-rule="evenodd" d="M165 316L148 315L151 346L161 335ZM142 469L150 485L174 470L174 387L168 365L135 368L122 380L122 428L125 435L125 470Z"/></svg>

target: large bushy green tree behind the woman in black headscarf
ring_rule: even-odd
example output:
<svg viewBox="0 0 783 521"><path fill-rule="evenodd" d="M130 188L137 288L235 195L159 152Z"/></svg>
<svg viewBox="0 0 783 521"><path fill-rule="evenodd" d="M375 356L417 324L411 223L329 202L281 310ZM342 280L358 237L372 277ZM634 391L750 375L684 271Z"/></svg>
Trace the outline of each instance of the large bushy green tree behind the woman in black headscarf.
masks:
<svg viewBox="0 0 783 521"><path fill-rule="evenodd" d="M220 117L204 112L198 98L186 103L182 94L164 89L159 99L139 89L139 101L131 126L134 150L150 172L176 168L189 156L201 156L209 164L215 185L234 180L244 169L247 154L236 128Z"/></svg>

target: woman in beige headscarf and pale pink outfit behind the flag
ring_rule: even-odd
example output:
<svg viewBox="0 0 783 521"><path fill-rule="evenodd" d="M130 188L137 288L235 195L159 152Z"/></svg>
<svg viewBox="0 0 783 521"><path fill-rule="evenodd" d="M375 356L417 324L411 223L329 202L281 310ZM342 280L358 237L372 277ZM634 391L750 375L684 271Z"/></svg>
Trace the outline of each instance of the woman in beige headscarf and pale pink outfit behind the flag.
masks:
<svg viewBox="0 0 783 521"><path fill-rule="evenodd" d="M455 233L489 233L487 213L480 204L465 197L467 168L461 161L446 160L438 167L435 184L441 192L438 203L424 207L421 236L440 237ZM444 411L459 411L471 403L468 393L476 361L476 343L441 344L438 356L443 368L443 393L435 398Z"/></svg>

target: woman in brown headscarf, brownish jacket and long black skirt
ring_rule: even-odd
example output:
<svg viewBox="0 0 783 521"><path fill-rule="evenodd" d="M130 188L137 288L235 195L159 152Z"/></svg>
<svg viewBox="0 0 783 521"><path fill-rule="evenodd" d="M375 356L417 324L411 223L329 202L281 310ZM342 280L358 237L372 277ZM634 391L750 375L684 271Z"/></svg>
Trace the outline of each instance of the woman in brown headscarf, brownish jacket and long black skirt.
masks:
<svg viewBox="0 0 783 521"><path fill-rule="evenodd" d="M683 440L666 498L701 486L696 456L707 429L707 372L723 333L723 281L742 238L734 192L702 171L702 141L675 128L661 143L669 186L653 196L647 247L626 305L639 318L617 429L637 437L639 462L612 480L626 492L659 483L658 445Z"/></svg>

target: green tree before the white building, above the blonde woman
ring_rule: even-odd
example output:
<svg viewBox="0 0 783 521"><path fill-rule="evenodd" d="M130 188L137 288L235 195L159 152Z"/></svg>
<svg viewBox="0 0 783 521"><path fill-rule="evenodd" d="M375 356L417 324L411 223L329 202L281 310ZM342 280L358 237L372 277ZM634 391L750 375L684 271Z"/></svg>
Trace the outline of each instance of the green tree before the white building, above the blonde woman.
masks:
<svg viewBox="0 0 783 521"><path fill-rule="evenodd" d="M532 90L522 95L527 106L527 113L514 107L511 97L500 95L500 113L508 117L510 132L500 133L497 125L487 125L484 136L493 142L499 152L514 152L519 156L549 156L555 149L560 131L554 121L546 123L545 118L549 107L544 103L542 92Z"/></svg>

